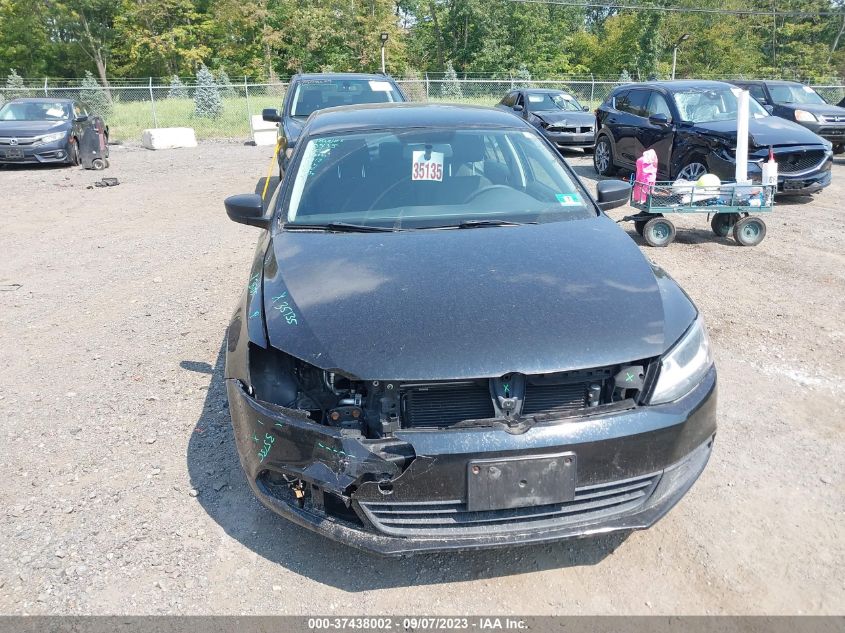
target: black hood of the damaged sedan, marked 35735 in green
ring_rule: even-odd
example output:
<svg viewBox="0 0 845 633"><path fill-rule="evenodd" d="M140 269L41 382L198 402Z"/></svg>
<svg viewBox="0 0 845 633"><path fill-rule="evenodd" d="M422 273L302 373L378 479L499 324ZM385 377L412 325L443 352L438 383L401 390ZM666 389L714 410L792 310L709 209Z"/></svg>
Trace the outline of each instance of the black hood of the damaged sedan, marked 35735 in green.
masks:
<svg viewBox="0 0 845 633"><path fill-rule="evenodd" d="M270 344L362 380L626 363L661 354L694 315L678 286L655 275L605 216L466 230L279 232L265 255Z"/></svg>

